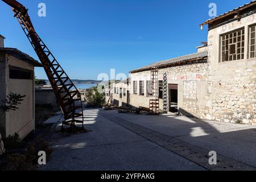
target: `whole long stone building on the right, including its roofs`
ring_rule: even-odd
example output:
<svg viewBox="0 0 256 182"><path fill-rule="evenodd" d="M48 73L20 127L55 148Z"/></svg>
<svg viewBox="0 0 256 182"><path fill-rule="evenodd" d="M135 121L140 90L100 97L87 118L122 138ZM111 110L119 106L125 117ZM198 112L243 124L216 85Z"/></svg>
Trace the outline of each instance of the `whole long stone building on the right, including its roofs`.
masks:
<svg viewBox="0 0 256 182"><path fill-rule="evenodd" d="M151 69L158 68L159 107L197 118L256 123L256 2L209 19L208 43L197 53L130 71L130 85L113 84L113 100L129 97L134 107L148 107ZM163 103L163 90L166 88ZM122 90L122 91L121 91ZM111 94L110 94L111 95ZM106 98L108 99L108 97ZM167 101L167 103L166 103Z"/></svg>

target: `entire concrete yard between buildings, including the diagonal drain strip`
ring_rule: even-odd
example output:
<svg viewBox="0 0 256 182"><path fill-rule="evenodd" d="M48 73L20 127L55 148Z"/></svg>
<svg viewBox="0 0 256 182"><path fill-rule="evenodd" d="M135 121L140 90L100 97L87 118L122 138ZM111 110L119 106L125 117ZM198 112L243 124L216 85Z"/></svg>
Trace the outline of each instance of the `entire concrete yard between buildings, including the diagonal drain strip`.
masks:
<svg viewBox="0 0 256 182"><path fill-rule="evenodd" d="M255 170L256 126L85 110L89 133L57 137L41 170ZM217 165L209 165L209 151Z"/></svg>

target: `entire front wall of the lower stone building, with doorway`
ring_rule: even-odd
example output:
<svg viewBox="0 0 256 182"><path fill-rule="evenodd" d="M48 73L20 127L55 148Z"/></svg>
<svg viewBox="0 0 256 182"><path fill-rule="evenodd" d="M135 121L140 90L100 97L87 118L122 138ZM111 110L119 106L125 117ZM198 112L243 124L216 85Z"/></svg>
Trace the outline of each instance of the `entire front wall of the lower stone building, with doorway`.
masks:
<svg viewBox="0 0 256 182"><path fill-rule="evenodd" d="M201 110L205 108L205 96L208 95L208 63L200 61L176 65L174 67L159 69L159 80L163 80L163 74L167 73L167 84L178 85L178 107L179 111L196 117L206 118L201 115ZM150 80L150 71L131 74L131 92L133 92L133 81L144 81L144 93L146 93L146 81ZM139 92L139 82L138 88ZM169 96L168 96L169 97ZM131 105L148 107L150 97L131 95ZM163 110L163 100L160 99L160 111Z"/></svg>

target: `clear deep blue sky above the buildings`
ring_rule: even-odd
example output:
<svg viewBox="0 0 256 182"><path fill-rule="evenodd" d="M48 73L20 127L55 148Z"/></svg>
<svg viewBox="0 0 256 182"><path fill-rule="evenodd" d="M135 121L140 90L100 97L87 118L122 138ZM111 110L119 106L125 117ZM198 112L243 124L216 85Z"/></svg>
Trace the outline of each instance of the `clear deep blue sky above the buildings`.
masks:
<svg viewBox="0 0 256 182"><path fill-rule="evenodd" d="M29 9L34 27L61 66L73 79L97 79L156 61L196 52L207 41L208 5L217 15L250 0L19 0ZM46 3L47 16L38 16ZM10 7L0 1L0 34L5 46L38 59ZM36 68L37 78L47 78Z"/></svg>

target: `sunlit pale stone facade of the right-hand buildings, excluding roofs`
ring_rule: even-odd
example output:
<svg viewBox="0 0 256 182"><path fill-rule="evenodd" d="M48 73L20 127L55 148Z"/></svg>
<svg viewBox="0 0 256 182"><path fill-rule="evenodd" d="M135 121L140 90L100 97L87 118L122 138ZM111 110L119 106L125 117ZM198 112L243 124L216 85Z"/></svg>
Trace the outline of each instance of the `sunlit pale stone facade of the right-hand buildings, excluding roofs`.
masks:
<svg viewBox="0 0 256 182"><path fill-rule="evenodd" d="M148 107L150 98L147 94L139 95L139 81L144 81L144 93L147 93L146 82L151 80L150 67L158 67L159 80L163 80L163 74L167 73L167 84L177 84L177 105L180 113L223 122L256 123L256 57L250 58L249 55L249 27L256 23L256 16L251 9L248 10L250 13L243 11L241 18L230 18L228 22L218 20L209 26L208 46L198 47L199 53L207 51L206 60L187 59L188 61L176 64L181 61L177 57L132 71L130 105ZM221 36L240 28L244 28L244 37L241 36L244 42L243 57L221 61ZM233 41L237 39L234 38ZM232 44L234 48L238 47L238 43ZM239 48L235 54L238 51ZM133 81L137 81L137 94L133 93ZM159 101L162 110L163 100ZM170 103L168 107L169 105Z"/></svg>

